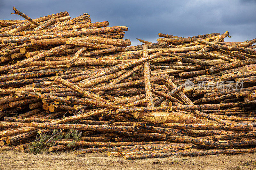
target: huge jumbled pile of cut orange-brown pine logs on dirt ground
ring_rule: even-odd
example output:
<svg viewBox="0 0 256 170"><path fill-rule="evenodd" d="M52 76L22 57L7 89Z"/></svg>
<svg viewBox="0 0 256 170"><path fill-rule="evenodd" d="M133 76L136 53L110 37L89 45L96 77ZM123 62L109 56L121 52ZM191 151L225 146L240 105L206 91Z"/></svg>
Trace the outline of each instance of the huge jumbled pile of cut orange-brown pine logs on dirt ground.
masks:
<svg viewBox="0 0 256 170"><path fill-rule="evenodd" d="M125 159L256 152L256 39L157 43L60 12L0 20L0 150ZM127 47L129 46L129 47Z"/></svg>

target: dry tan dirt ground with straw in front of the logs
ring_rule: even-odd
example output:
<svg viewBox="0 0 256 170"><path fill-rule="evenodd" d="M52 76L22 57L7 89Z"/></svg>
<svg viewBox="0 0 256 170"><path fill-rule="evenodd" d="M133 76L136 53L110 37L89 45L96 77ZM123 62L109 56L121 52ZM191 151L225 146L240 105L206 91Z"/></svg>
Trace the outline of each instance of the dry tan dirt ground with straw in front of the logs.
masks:
<svg viewBox="0 0 256 170"><path fill-rule="evenodd" d="M73 152L34 155L2 151L0 170L2 169L256 169L256 153L125 160L122 157L107 157L106 153L76 156Z"/></svg>

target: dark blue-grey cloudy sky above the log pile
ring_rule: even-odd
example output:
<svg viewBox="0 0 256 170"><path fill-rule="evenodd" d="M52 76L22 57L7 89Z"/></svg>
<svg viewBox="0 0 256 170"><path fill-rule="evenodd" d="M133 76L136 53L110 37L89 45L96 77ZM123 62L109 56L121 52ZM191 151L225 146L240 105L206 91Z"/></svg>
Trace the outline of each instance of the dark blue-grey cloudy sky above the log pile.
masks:
<svg viewBox="0 0 256 170"><path fill-rule="evenodd" d="M92 22L127 26L124 39L157 42L158 33L190 37L229 32L226 42L256 38L256 0L0 0L0 19L23 19L12 15L13 7L31 18L68 11L71 18L89 13Z"/></svg>

